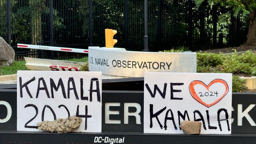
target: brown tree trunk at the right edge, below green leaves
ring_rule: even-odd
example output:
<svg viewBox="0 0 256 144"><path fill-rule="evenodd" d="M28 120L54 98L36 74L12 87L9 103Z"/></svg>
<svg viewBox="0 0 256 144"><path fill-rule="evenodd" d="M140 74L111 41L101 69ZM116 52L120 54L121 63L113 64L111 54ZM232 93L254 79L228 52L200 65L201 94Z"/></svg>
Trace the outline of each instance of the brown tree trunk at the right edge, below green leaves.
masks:
<svg viewBox="0 0 256 144"><path fill-rule="evenodd" d="M256 45L256 11L249 14L249 29L245 45Z"/></svg>

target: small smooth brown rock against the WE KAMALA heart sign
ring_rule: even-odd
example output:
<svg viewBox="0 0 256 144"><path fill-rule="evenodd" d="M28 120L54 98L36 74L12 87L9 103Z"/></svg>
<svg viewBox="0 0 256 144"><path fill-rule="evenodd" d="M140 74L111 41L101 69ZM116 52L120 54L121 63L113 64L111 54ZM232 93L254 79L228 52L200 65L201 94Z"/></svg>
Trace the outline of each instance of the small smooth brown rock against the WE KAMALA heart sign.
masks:
<svg viewBox="0 0 256 144"><path fill-rule="evenodd" d="M199 135L201 132L201 122L184 120L180 128L186 135Z"/></svg>

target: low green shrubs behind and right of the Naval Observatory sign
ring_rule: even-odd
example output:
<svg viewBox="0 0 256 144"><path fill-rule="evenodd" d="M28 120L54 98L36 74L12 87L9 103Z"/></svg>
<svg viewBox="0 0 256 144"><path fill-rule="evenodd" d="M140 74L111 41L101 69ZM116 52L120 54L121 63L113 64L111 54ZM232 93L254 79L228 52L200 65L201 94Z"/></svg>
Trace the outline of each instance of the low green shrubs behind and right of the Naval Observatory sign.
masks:
<svg viewBox="0 0 256 144"><path fill-rule="evenodd" d="M163 52L181 52L180 50L164 50ZM197 72L218 72L233 73L232 91L247 91L245 86L246 79L240 79L236 75L256 76L256 53L247 51L243 54L237 54L235 51L231 55L197 53Z"/></svg>

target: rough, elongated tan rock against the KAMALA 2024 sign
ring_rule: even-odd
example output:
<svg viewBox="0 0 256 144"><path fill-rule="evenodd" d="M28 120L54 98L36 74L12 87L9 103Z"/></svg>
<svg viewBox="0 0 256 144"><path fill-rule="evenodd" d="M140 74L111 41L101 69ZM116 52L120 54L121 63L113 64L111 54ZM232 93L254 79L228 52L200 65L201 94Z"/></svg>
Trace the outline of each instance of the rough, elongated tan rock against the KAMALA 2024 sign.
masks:
<svg viewBox="0 0 256 144"><path fill-rule="evenodd" d="M78 118L76 116L70 116L69 118L58 118L54 121L43 121L37 123L38 130L42 131L50 131L57 133L69 133L78 129L80 127L80 123L82 122L82 118Z"/></svg>

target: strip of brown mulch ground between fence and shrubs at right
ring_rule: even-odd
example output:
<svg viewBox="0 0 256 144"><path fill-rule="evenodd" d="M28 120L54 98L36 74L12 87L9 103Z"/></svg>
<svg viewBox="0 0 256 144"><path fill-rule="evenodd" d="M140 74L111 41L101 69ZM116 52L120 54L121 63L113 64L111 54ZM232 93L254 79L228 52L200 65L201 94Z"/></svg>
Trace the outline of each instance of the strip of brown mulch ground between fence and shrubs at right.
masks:
<svg viewBox="0 0 256 144"><path fill-rule="evenodd" d="M241 45L239 47L220 48L220 49L215 49L215 50L204 50L201 52L211 52L211 53L217 53L217 54L219 54L220 52L221 53L231 53L231 52L235 52L233 49L235 49L236 52L243 52L243 51L247 51L247 50L256 50L256 46Z"/></svg>

